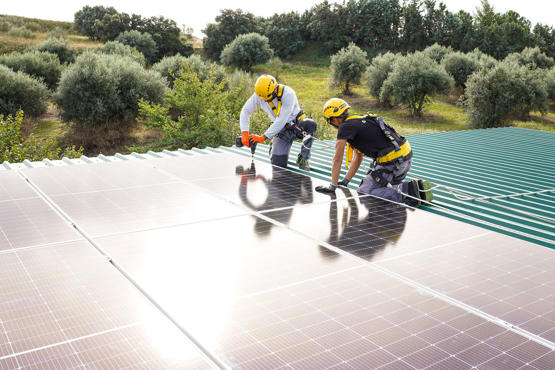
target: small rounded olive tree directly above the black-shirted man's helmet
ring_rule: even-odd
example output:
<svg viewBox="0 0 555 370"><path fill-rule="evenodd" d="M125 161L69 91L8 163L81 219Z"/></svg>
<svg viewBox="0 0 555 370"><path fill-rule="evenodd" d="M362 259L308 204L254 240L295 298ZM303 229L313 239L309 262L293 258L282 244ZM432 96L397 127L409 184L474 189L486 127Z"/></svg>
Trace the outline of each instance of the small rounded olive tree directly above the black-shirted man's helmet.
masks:
<svg viewBox="0 0 555 370"><path fill-rule="evenodd" d="M360 84L362 73L368 67L368 55L354 43L331 56L330 87L339 87L343 94L351 95L350 85Z"/></svg>

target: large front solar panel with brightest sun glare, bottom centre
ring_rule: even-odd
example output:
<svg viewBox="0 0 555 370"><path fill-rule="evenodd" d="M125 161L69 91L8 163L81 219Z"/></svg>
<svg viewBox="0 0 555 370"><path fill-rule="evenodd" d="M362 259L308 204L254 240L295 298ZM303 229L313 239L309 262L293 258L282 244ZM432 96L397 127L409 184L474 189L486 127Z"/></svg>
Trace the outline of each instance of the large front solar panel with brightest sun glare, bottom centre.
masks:
<svg viewBox="0 0 555 370"><path fill-rule="evenodd" d="M229 367L468 366L529 341L255 216L95 241Z"/></svg>

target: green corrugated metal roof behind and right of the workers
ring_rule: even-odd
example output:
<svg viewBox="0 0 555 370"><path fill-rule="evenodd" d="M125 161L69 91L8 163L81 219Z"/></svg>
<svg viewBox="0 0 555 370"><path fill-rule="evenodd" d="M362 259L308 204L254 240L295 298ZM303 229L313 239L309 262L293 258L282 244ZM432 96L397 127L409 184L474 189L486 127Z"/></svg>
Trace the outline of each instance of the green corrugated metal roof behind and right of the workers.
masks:
<svg viewBox="0 0 555 370"><path fill-rule="evenodd" d="M434 184L475 197L555 189L555 133L506 127L407 138L415 153L409 175ZM334 141L326 144L334 145ZM313 148L322 146L325 144L315 142ZM219 149L251 155L248 148ZM292 170L299 171L295 165L299 149L300 143L294 143L289 160ZM333 148L313 151L310 176L329 180L333 155ZM255 158L269 161L268 146L259 145ZM343 168L342 174L345 171ZM356 189L365 174L361 166L355 176L358 181L350 187ZM555 248L555 192L491 199L490 203L459 200L445 189L435 189L434 194L433 204L422 209Z"/></svg>

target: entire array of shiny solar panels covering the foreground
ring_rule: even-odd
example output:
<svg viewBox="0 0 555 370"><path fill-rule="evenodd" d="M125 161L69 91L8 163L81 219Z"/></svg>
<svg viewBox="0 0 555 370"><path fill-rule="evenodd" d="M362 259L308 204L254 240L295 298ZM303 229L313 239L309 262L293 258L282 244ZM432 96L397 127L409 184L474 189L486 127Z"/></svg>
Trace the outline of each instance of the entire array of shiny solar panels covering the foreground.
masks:
<svg viewBox="0 0 555 370"><path fill-rule="evenodd" d="M2 370L555 363L555 250L239 155L6 172L80 241L0 252Z"/></svg>

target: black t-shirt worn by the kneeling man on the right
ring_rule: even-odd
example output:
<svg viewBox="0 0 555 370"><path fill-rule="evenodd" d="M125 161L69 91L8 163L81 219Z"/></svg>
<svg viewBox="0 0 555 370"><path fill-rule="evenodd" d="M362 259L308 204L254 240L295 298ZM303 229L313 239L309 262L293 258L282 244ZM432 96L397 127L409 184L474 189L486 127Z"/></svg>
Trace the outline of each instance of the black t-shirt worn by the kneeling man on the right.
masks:
<svg viewBox="0 0 555 370"><path fill-rule="evenodd" d="M398 137L395 133L392 135ZM337 130L337 140L342 139L346 139L353 148L374 159L380 150L394 149L380 126L369 118L351 118L343 121Z"/></svg>

